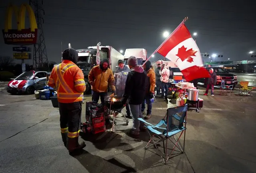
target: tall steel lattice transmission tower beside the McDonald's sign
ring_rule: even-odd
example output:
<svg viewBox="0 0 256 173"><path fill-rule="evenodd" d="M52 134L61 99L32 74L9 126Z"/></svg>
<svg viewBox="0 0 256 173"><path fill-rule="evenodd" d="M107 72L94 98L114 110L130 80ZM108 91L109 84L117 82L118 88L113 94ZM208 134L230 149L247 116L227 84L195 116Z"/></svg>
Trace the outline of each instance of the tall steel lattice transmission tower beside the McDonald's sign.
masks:
<svg viewBox="0 0 256 173"><path fill-rule="evenodd" d="M44 68L46 67L49 70L44 32L42 28L42 24L44 23L44 19L42 18L42 13L44 14L44 9L42 8L43 1L40 2L38 2L38 0L29 0L29 4L32 6L35 13L38 28L38 42L34 44L33 67L37 70L44 66Z"/></svg>

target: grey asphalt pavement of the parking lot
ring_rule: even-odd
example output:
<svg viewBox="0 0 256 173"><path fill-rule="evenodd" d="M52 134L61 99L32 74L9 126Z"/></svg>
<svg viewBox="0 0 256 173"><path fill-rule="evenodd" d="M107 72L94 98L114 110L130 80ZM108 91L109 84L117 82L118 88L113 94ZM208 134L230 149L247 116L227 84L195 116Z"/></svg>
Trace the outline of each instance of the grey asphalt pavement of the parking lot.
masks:
<svg viewBox="0 0 256 173"><path fill-rule="evenodd" d="M145 150L147 132L139 139L127 136L132 126L118 118L115 132L83 134L87 146L79 156L69 155L62 144L58 108L34 95L0 92L0 172L255 172L256 117L254 96L204 96L200 112L187 113L185 153L176 153L163 164L152 147ZM90 101L85 96L85 101ZM173 105L156 99L151 123L157 123ZM125 112L125 111L124 111ZM83 116L85 120L85 104ZM182 142L182 141L181 141ZM171 146L170 146L171 147Z"/></svg>

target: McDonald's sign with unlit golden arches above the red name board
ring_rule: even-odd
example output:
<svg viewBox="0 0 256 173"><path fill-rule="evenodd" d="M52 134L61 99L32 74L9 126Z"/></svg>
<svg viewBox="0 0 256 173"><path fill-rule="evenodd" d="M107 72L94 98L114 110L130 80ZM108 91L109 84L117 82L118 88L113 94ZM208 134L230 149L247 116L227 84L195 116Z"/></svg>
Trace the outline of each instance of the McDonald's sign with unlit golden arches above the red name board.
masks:
<svg viewBox="0 0 256 173"><path fill-rule="evenodd" d="M26 10L30 21L30 28L25 28ZM12 14L17 20L17 28L12 29ZM4 43L10 45L31 45L37 41L38 29L36 17L31 6L22 4L18 10L17 6L10 4L6 11L5 26L3 31Z"/></svg>

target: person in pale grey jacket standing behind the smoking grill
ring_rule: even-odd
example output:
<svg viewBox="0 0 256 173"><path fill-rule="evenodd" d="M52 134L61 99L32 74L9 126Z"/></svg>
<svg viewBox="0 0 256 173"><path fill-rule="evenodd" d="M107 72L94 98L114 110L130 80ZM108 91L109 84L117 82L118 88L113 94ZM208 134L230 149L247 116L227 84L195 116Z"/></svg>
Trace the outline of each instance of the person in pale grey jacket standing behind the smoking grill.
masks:
<svg viewBox="0 0 256 173"><path fill-rule="evenodd" d="M115 88L116 88L117 96L121 97L125 93L125 82L126 82L127 75L128 75L128 72L130 71L130 69L129 69L129 67L125 66L125 63L121 59L117 62L117 65L118 65L118 69L114 73ZM118 113L121 113L121 111L117 112L116 115ZM126 104L126 114L127 114L128 118L131 118L129 104ZM114 115L114 116L116 116L116 115Z"/></svg>

